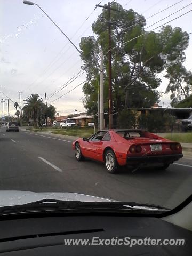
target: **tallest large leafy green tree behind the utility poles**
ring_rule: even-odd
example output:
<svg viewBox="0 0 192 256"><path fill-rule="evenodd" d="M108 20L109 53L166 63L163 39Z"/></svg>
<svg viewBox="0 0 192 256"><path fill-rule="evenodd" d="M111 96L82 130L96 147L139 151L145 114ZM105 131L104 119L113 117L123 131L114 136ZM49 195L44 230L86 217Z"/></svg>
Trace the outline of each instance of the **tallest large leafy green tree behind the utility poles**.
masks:
<svg viewBox="0 0 192 256"><path fill-rule="evenodd" d="M107 5L106 5L107 7ZM113 2L111 11L112 90L115 111L127 107L150 107L158 102L158 74L175 61L185 60L189 36L181 28L162 27L146 33L146 21L132 9ZM137 23L137 25L135 25ZM95 36L82 37L80 48L87 81L83 86L84 107L97 114L100 52L103 51L104 108L108 110L108 11L102 10L92 25ZM142 35L143 34L143 35ZM139 36L138 38L135 38ZM129 41L129 43L126 43ZM115 47L115 48L114 48ZM143 96L144 95L144 96Z"/></svg>

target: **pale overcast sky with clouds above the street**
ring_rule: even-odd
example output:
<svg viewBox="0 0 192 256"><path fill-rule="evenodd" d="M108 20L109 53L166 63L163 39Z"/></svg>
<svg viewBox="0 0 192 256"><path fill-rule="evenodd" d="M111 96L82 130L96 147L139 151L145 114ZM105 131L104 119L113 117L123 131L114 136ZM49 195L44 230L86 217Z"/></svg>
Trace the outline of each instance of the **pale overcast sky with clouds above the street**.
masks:
<svg viewBox="0 0 192 256"><path fill-rule="evenodd" d="M50 15L78 48L82 36L93 35L91 25L101 13L101 9L93 10L95 4L99 2L100 0L35 0L35 3ZM101 4L107 4L107 2L103 0ZM119 0L117 2L124 8L132 8L147 18L179 0ZM192 2L188 0L180 1L170 9L148 19L147 26L190 3ZM191 9L192 5L189 5L150 29ZM170 22L170 25L179 26L188 33L192 32L191 13ZM14 102L19 102L19 91L21 91L22 105L25 103L23 99L31 93L38 93L44 99L46 92L49 103L86 79L86 74L79 76L73 83L49 99L49 95L81 70L82 61L79 53L36 5L25 5L22 0L0 0L0 24L0 91ZM191 69L191 36L192 34L186 50L187 69ZM163 78L159 91L164 92L166 86L167 80ZM3 93L0 93L0 98L5 100L7 98ZM54 101L53 105L61 115L74 113L75 109L81 112L84 111L82 97L82 86L79 86ZM161 104L163 102L165 106L169 105L169 95L163 94ZM7 114L6 103L4 107ZM10 102L10 114L13 114L12 102ZM0 105L1 115L2 104Z"/></svg>

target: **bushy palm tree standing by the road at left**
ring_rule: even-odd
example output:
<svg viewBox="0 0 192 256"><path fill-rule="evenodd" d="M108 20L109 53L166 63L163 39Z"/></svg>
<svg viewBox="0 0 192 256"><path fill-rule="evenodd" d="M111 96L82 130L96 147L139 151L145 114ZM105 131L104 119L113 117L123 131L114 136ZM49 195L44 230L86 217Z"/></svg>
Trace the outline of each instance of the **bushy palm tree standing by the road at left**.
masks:
<svg viewBox="0 0 192 256"><path fill-rule="evenodd" d="M41 112L43 100L39 99L38 94L31 94L27 99L26 105L23 107L23 113L25 113L29 118L34 120L34 126L37 127L37 117L39 112Z"/></svg>

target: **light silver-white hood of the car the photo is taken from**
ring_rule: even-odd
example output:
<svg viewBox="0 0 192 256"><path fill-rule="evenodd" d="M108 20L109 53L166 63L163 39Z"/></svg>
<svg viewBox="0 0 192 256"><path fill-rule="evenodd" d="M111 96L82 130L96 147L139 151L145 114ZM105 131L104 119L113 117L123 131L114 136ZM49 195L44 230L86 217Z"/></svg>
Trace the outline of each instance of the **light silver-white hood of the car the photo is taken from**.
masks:
<svg viewBox="0 0 192 256"><path fill-rule="evenodd" d="M63 201L81 201L81 202L103 202L113 201L107 198L90 196L78 193L60 193L60 192L31 192L18 190L1 190L0 207L21 205L39 201L42 199L57 199Z"/></svg>

